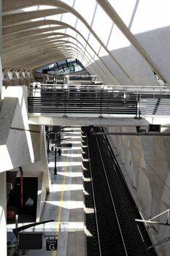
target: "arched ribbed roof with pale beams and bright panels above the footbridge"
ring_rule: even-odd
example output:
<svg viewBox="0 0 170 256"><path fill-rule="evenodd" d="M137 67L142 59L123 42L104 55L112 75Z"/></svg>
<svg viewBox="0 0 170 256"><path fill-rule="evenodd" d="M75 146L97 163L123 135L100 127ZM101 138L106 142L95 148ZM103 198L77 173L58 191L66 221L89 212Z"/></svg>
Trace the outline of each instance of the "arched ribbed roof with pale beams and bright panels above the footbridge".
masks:
<svg viewBox="0 0 170 256"><path fill-rule="evenodd" d="M3 0L3 70L75 58L104 83L169 83L168 10L167 0Z"/></svg>

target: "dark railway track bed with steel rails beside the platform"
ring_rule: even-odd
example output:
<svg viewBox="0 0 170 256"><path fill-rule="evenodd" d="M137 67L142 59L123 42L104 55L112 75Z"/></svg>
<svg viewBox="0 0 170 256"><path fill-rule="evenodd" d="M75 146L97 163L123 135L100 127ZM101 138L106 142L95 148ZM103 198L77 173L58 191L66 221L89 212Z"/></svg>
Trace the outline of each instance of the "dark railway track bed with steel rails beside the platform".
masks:
<svg viewBox="0 0 170 256"><path fill-rule="evenodd" d="M101 129L96 128L96 132ZM88 256L153 256L147 231L126 187L106 136L82 128Z"/></svg>

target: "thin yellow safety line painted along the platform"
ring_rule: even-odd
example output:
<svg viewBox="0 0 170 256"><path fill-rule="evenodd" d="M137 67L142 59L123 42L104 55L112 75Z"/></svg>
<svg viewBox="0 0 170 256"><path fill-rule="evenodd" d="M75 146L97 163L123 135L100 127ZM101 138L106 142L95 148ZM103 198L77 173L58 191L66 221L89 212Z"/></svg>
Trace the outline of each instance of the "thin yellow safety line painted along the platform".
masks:
<svg viewBox="0 0 170 256"><path fill-rule="evenodd" d="M63 173L63 184L62 184L62 189L61 189L61 201L60 201L60 208L58 211L58 222L57 222L57 227L56 227L56 232L55 232L55 236L57 236L58 238L58 233L59 233L59 229L61 226L61 213L62 213L62 206L63 206L63 194L64 194L64 186L65 186L65 182L66 182L66 171L67 171L67 167L68 167L68 159L69 159L69 150L67 151L67 155L66 155L66 166L64 168L64 173ZM53 251L53 256L57 255L57 251Z"/></svg>

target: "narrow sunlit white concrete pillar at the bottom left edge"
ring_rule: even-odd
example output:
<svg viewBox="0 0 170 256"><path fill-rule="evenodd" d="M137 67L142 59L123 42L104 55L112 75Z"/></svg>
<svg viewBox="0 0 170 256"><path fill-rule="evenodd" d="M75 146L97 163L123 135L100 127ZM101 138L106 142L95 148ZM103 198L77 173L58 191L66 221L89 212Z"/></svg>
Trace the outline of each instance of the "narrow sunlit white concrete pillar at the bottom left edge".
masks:
<svg viewBox="0 0 170 256"><path fill-rule="evenodd" d="M7 204L7 189L6 189L6 173L0 173L0 248L1 255L7 255L7 221L6 221L6 204Z"/></svg>

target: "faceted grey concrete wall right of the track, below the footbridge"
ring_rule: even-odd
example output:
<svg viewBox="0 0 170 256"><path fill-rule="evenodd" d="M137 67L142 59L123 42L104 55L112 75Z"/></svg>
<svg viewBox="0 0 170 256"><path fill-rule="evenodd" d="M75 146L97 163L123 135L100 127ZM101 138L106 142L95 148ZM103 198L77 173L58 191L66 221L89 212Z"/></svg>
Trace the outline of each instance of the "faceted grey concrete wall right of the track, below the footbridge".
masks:
<svg viewBox="0 0 170 256"><path fill-rule="evenodd" d="M136 127L109 127L108 132L136 132ZM166 132L169 132L167 130ZM125 180L144 219L170 208L170 138L167 136L108 135ZM166 222L167 214L154 219ZM151 225L154 242L169 237L169 227ZM159 255L169 255L170 244L156 246Z"/></svg>

